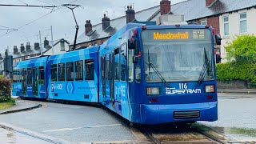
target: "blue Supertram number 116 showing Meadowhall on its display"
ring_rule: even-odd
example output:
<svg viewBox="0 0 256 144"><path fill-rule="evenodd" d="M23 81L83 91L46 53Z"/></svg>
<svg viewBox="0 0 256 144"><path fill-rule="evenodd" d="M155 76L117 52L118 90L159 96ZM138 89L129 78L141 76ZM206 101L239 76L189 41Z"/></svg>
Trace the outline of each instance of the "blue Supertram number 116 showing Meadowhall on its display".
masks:
<svg viewBox="0 0 256 144"><path fill-rule="evenodd" d="M13 93L20 97L99 102L141 124L218 119L211 26L130 23L101 46L16 69Z"/></svg>

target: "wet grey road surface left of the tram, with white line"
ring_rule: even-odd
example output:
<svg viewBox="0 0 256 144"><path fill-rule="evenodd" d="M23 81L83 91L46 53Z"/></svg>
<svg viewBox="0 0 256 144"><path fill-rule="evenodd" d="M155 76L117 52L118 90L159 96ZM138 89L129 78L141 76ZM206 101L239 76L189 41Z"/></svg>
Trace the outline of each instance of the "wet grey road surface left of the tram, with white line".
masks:
<svg viewBox="0 0 256 144"><path fill-rule="evenodd" d="M42 104L42 108L35 110L0 115L0 122L67 142L137 141L126 123L108 110L50 102Z"/></svg>

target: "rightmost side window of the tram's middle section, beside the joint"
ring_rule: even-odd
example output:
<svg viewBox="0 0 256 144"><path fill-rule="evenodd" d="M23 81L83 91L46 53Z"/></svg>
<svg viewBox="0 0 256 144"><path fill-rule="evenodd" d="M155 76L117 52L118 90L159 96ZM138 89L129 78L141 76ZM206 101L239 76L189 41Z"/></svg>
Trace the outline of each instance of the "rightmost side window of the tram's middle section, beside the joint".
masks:
<svg viewBox="0 0 256 144"><path fill-rule="evenodd" d="M94 80L94 59L85 61L86 80Z"/></svg>

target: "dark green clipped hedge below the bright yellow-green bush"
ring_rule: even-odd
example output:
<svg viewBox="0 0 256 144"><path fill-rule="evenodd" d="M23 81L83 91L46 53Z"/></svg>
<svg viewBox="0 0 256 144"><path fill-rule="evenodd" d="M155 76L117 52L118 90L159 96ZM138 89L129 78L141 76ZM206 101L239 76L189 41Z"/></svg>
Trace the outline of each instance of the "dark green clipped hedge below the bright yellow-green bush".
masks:
<svg viewBox="0 0 256 144"><path fill-rule="evenodd" d="M256 86L256 61L219 63L216 66L217 79L222 82L242 80Z"/></svg>

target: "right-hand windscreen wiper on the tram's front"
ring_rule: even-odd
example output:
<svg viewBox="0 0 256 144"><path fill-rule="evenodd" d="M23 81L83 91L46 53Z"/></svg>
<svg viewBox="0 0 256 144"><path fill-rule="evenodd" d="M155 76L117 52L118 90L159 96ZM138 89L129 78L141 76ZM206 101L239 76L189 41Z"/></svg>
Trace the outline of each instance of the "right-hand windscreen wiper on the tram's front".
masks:
<svg viewBox="0 0 256 144"><path fill-rule="evenodd" d="M198 86L200 86L206 77L206 73L210 73L210 60L206 54L206 48L204 48L204 54L205 54L205 62L203 63L202 70L200 72L199 78L198 78Z"/></svg>

